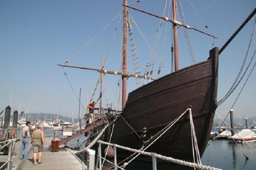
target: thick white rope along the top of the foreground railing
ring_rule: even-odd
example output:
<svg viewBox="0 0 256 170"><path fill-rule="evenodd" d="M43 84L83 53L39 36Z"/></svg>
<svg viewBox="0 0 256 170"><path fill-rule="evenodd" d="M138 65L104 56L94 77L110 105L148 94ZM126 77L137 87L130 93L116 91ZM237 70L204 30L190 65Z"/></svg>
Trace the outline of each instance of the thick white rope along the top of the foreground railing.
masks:
<svg viewBox="0 0 256 170"><path fill-rule="evenodd" d="M213 167L209 167L209 166L205 166L205 165L200 165L200 164L197 164L197 163L192 163L192 162L187 162L187 161L183 161L183 160L179 160L179 159L174 159L172 157L166 157L166 156L163 156L163 155L160 155L160 154L157 154L157 153L153 154L153 153L150 153L150 152L140 151L140 150L137 150L137 149L131 149L131 148L120 146L118 144L111 144L111 143L103 142L103 141L100 141L100 140L98 141L98 143L107 144L107 145L110 145L112 147L117 147L117 148L120 148L120 149L124 149L124 150L130 151L130 152L136 152L138 154L143 154L143 155L147 155L147 156L150 156L150 157L152 157L152 155L153 155L154 157L156 157L158 159L162 159L162 160L165 160L165 161L170 161L170 162L173 162L173 163L181 164L181 165L192 167L192 168L203 169L203 170L220 170L218 168L213 168ZM128 163L125 163L125 166L127 166L127 165L128 165Z"/></svg>

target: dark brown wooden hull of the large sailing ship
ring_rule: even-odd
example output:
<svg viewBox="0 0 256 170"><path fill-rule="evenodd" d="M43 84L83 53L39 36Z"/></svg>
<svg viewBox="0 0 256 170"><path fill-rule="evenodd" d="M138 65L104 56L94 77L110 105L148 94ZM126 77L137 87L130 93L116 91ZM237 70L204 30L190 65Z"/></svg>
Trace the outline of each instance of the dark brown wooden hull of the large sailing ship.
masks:
<svg viewBox="0 0 256 170"><path fill-rule="evenodd" d="M144 127L147 128L144 138L146 141L179 117L190 105L202 156L216 109L214 104L217 98L217 80L216 47L210 51L210 57L205 62L168 74L129 93L122 116L139 135ZM111 143L139 149L141 139L123 119L119 118L115 122ZM182 160L193 160L189 113L145 151ZM124 150L117 152L118 155L125 157L130 155Z"/></svg>

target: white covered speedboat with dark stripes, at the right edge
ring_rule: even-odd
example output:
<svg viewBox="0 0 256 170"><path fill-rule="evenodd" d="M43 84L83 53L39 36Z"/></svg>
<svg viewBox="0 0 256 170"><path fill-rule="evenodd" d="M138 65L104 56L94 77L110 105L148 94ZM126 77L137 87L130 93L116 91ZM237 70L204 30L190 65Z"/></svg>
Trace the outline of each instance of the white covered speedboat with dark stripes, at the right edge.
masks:
<svg viewBox="0 0 256 170"><path fill-rule="evenodd" d="M238 132L237 134L228 137L228 140L230 140L229 142L233 142L233 139L237 143L245 143L245 141L246 142L256 142L256 134L253 131L251 131L250 129L243 129L240 132Z"/></svg>

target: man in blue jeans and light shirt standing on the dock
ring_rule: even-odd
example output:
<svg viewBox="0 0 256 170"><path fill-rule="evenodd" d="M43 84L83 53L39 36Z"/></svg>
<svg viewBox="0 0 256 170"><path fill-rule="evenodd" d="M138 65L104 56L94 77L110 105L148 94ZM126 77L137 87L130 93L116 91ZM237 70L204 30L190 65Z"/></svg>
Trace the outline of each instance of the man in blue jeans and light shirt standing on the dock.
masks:
<svg viewBox="0 0 256 170"><path fill-rule="evenodd" d="M25 150L24 159L28 159L29 150L29 126L31 122L26 122L26 126L22 129L22 142L20 145L19 159L22 159L23 151Z"/></svg>

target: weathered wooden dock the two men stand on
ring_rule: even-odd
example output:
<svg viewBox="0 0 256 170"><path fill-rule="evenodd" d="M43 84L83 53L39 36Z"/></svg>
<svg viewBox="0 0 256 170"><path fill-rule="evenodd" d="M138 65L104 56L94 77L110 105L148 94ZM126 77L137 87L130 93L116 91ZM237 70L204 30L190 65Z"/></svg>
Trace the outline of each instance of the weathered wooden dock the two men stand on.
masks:
<svg viewBox="0 0 256 170"><path fill-rule="evenodd" d="M33 165L33 148L30 145L30 153L28 160L19 160L18 154L20 150L21 141L16 142L15 144L15 152L17 155L13 159L13 170L81 170L85 169L85 165L81 162L70 150L65 151L62 146L60 146L59 152L51 152L49 150L49 145L51 144L51 140L53 137L45 138L45 147L43 148L42 153L42 161L43 163L38 164L38 158L36 165ZM7 160L8 156L0 157L0 163L4 163Z"/></svg>

